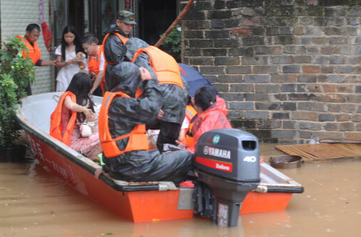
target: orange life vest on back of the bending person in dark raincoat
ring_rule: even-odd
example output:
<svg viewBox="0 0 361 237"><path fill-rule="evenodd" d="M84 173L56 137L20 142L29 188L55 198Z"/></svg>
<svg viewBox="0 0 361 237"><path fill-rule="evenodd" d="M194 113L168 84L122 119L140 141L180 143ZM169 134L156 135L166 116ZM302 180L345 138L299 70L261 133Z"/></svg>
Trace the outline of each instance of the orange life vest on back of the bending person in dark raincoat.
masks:
<svg viewBox="0 0 361 237"><path fill-rule="evenodd" d="M148 46L145 49L138 49L134 54L132 62L134 62L136 57L143 52L148 54L150 66L153 68L155 75L157 75L160 84L178 85L183 90L179 65L172 56L157 47Z"/></svg>

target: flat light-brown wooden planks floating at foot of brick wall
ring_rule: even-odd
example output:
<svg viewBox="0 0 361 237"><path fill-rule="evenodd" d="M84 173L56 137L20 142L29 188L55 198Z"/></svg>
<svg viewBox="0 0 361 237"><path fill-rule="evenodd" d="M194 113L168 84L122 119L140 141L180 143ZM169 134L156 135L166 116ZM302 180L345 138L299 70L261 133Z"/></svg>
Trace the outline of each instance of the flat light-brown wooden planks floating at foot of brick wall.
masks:
<svg viewBox="0 0 361 237"><path fill-rule="evenodd" d="M361 159L361 144L278 145L286 154L300 155L304 162L343 162Z"/></svg>

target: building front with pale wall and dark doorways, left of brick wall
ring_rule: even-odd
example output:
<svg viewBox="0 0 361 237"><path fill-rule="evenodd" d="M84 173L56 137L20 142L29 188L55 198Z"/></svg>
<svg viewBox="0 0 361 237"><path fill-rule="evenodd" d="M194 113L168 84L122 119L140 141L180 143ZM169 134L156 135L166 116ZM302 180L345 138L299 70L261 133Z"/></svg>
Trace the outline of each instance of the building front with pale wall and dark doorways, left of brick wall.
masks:
<svg viewBox="0 0 361 237"><path fill-rule="evenodd" d="M119 10L136 13L134 36L155 44L177 16L177 0L1 0L0 36L25 35L30 23L40 25L42 16L52 32L52 50L49 53L40 34L37 44L42 59L55 59L54 51L61 44L61 34L66 25L74 25L78 32L92 32L100 44L105 37L104 30L116 21ZM35 84L32 93L51 92L55 89L57 68L36 67Z"/></svg>

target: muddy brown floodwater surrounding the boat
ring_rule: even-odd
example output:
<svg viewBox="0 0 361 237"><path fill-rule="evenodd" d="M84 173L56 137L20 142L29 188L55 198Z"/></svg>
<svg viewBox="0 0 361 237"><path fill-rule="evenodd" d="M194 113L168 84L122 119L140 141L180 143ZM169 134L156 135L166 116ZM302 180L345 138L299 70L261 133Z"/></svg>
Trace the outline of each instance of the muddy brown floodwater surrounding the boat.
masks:
<svg viewBox="0 0 361 237"><path fill-rule="evenodd" d="M283 154L261 144L261 155ZM304 186L282 212L241 214L238 226L208 219L131 223L76 193L36 162L0 163L0 236L361 236L361 161L278 169Z"/></svg>

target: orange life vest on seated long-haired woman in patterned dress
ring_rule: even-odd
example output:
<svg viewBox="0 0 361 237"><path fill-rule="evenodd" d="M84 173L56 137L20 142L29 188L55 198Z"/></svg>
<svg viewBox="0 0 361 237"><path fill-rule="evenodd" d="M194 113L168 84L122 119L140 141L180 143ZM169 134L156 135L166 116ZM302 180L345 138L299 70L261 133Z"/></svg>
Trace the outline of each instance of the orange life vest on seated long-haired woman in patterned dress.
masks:
<svg viewBox="0 0 361 237"><path fill-rule="evenodd" d="M50 132L49 134L53 138L57 138L57 140L63 142L65 145L70 145L71 143L71 133L73 133L73 129L76 122L76 111L71 111L71 116L66 126L65 133L62 134L63 128L61 127L61 114L63 113L63 106L66 96L71 97L71 101L76 103L76 96L71 92L64 92L61 94L58 100L57 107L55 108L52 116L50 116Z"/></svg>

